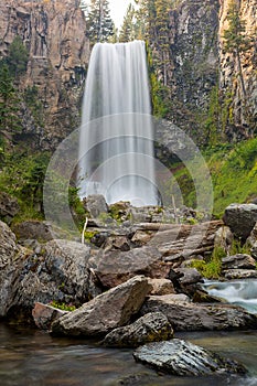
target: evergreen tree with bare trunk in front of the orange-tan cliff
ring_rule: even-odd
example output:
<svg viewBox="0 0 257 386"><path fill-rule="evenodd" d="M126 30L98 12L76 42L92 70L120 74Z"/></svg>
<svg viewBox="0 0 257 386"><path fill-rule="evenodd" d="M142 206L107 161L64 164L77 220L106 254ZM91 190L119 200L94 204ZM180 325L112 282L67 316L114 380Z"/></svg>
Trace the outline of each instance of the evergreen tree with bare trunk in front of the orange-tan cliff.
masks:
<svg viewBox="0 0 257 386"><path fill-rule="evenodd" d="M240 19L239 3L232 0L227 11L228 29L224 31L224 49L227 53L235 55L238 65L238 75L240 78L243 97L246 98L245 82L242 69L240 55L251 47L253 41L246 35L246 22Z"/></svg>

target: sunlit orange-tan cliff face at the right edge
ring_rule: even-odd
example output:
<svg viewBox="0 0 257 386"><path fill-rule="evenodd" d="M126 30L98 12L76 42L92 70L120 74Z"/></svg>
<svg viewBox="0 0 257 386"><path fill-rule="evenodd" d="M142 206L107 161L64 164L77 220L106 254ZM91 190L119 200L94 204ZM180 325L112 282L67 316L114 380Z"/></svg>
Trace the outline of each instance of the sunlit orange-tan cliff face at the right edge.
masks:
<svg viewBox="0 0 257 386"><path fill-rule="evenodd" d="M223 103L227 105L231 116L227 117L231 135L234 137L248 137L257 129L257 43L251 49L240 53L243 82L239 79L238 62L235 55L224 49L224 31L228 28L227 11L231 0L221 1L219 11L219 63L221 90ZM238 0L239 15L245 21L246 36L256 36L257 31L257 1ZM243 87L245 87L245 96ZM244 100L245 99L245 100Z"/></svg>

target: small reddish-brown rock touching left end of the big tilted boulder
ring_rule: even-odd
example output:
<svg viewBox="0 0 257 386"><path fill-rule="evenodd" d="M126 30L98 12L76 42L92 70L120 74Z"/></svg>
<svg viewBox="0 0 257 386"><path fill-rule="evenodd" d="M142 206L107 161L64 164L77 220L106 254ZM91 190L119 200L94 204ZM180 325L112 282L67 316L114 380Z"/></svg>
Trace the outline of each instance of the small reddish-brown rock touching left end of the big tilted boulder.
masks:
<svg viewBox="0 0 257 386"><path fill-rule="evenodd" d="M62 311L52 305L38 302L32 310L35 325L41 330L50 330L51 324L66 313L67 311Z"/></svg>

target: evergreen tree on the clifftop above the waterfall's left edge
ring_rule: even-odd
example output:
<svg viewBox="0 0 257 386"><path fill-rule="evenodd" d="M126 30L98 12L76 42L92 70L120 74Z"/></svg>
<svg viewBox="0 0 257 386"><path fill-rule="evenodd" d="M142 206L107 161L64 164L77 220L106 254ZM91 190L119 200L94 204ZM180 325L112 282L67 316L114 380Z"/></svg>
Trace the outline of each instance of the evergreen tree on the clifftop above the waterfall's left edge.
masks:
<svg viewBox="0 0 257 386"><path fill-rule="evenodd" d="M92 45L97 42L107 42L115 33L115 24L110 18L107 0L90 0L86 21L87 36Z"/></svg>

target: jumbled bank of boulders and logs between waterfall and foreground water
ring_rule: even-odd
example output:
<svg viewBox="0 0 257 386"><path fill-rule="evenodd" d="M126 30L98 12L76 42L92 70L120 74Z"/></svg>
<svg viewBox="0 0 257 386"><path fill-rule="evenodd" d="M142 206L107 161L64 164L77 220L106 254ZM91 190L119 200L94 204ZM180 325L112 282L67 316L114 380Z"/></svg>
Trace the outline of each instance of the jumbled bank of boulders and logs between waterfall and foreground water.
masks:
<svg viewBox="0 0 257 386"><path fill-rule="evenodd" d="M94 337L114 347L162 342L158 355L179 361L178 368L173 362L156 365L156 357L148 363L141 358L144 349L135 357L178 375L185 374L189 353L194 356L200 349L173 341L176 332L257 329L255 314L208 296L201 270L192 268L223 249L222 280L257 277L257 205L231 205L224 222L200 221L189 208L133 208L128 203L108 207L103 197L90 197L86 205L84 244L55 238L50 224L25 222L12 232L0 222L2 320L36 324L58 336ZM240 253L232 254L235 243ZM181 360L172 354L178 344L184 351ZM239 365L219 360L215 367L212 355L205 354L208 365L196 374L244 373ZM203 363L195 366L200 371Z"/></svg>

